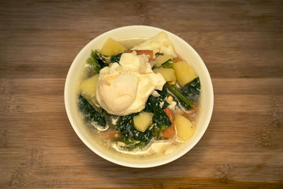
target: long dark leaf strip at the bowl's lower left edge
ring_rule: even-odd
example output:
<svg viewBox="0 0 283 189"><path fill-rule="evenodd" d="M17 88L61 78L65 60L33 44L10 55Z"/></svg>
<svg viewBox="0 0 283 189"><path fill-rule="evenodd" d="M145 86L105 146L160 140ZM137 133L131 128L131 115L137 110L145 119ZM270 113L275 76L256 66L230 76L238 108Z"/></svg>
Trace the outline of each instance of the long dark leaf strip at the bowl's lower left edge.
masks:
<svg viewBox="0 0 283 189"><path fill-rule="evenodd" d="M82 113L86 115L86 119L95 122L96 124L105 127L106 121L103 115L98 113L96 109L93 108L91 103L88 103L86 98L83 98L83 96L79 95L79 108Z"/></svg>

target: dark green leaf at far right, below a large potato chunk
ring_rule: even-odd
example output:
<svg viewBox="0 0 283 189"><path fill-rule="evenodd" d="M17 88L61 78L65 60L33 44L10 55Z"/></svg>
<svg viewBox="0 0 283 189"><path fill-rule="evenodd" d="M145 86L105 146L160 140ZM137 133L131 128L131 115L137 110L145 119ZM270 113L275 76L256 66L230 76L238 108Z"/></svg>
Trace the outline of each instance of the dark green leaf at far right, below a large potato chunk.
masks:
<svg viewBox="0 0 283 189"><path fill-rule="evenodd" d="M186 84L181 88L181 92L190 99L190 101L197 101L198 96L200 95L200 78L197 77L190 84Z"/></svg>

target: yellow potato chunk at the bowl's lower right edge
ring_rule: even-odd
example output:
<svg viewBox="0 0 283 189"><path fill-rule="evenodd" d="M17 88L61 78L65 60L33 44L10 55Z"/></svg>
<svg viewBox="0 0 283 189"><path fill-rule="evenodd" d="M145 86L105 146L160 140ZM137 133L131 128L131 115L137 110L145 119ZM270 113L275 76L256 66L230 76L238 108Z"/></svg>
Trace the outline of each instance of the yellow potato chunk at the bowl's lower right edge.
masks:
<svg viewBox="0 0 283 189"><path fill-rule="evenodd" d="M187 120L183 115L175 115L175 125L178 137L182 140L187 140L195 133L195 126L190 120Z"/></svg>

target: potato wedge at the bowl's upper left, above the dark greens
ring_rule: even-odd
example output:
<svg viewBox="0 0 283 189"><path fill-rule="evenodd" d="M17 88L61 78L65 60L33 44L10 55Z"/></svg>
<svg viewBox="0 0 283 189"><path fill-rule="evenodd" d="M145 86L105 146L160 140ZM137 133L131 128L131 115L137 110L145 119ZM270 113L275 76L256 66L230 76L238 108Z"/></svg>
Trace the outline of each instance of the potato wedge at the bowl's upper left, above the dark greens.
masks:
<svg viewBox="0 0 283 189"><path fill-rule="evenodd" d="M112 56L124 52L125 50L127 50L127 48L120 44L120 42L108 38L99 52L105 56Z"/></svg>

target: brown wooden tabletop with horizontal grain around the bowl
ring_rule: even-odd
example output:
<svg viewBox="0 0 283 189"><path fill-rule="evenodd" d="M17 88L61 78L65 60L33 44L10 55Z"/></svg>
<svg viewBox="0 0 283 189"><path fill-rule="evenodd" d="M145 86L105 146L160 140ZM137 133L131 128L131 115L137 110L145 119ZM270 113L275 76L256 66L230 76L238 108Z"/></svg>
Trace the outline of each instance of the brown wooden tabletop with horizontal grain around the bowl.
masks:
<svg viewBox="0 0 283 189"><path fill-rule="evenodd" d="M74 57L124 25L179 35L212 76L207 132L164 166L105 161L65 112ZM283 187L282 1L1 1L0 38L0 188Z"/></svg>

